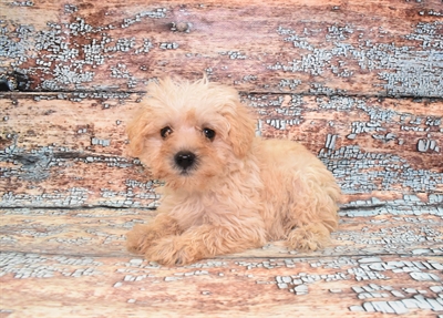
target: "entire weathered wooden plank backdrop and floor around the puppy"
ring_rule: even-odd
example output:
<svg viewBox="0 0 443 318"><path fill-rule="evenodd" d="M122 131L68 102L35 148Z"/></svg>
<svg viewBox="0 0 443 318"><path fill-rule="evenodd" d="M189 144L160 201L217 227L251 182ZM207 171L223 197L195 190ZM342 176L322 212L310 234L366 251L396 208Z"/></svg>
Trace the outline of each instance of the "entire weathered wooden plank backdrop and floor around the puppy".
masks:
<svg viewBox="0 0 443 318"><path fill-rule="evenodd" d="M126 122L204 72L336 175L329 248L125 252L158 199ZM443 315L442 1L2 0L0 74L0 317Z"/></svg>

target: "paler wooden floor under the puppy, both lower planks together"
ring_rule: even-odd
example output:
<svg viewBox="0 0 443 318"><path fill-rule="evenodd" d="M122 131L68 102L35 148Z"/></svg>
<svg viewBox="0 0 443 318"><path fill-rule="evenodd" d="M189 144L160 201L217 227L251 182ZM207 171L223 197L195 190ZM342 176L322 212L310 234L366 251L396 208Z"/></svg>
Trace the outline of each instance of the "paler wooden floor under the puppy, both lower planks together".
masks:
<svg viewBox="0 0 443 318"><path fill-rule="evenodd" d="M443 211L342 213L323 252L280 243L163 267L128 254L141 209L0 211L2 317L435 317ZM38 293L35 293L38 290Z"/></svg>

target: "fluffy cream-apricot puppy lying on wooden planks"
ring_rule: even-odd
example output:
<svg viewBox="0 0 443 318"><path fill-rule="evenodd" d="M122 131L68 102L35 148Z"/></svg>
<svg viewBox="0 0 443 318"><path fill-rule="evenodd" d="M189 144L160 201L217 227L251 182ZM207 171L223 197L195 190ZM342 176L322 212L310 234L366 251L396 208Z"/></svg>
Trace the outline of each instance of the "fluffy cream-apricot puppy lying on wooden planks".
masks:
<svg viewBox="0 0 443 318"><path fill-rule="evenodd" d="M305 146L255 136L256 122L228 86L164 79L127 126L130 151L165 183L158 215L127 233L127 248L163 265L285 240L324 247L340 189Z"/></svg>

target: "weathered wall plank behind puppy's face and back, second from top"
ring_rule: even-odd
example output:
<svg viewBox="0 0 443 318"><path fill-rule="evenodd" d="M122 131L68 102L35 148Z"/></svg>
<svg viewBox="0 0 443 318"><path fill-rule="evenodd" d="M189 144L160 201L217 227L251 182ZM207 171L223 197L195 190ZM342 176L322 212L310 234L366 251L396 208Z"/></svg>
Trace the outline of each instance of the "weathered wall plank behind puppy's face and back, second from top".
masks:
<svg viewBox="0 0 443 318"><path fill-rule="evenodd" d="M148 175L126 152L141 95L3 94L0 205L153 206ZM442 101L245 94L264 137L308 146L336 175L346 202L443 193ZM390 194L392 192L392 195Z"/></svg>

